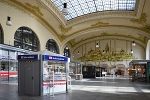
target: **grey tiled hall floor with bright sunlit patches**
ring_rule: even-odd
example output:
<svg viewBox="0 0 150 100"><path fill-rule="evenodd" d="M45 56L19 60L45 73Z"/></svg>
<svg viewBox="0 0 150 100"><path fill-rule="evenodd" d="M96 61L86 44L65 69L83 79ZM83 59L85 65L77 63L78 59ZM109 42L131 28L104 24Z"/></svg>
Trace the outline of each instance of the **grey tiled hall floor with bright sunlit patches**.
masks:
<svg viewBox="0 0 150 100"><path fill-rule="evenodd" d="M16 83L0 82L0 100L150 100L150 83L131 82L124 77L72 80L67 94L19 96Z"/></svg>

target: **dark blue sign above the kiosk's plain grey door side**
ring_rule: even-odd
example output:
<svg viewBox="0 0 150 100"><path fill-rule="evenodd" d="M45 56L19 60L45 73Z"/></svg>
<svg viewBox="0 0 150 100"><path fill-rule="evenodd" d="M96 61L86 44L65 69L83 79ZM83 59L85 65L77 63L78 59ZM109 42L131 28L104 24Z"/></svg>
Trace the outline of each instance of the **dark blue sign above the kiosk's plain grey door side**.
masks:
<svg viewBox="0 0 150 100"><path fill-rule="evenodd" d="M39 55L18 55L18 60L38 60Z"/></svg>

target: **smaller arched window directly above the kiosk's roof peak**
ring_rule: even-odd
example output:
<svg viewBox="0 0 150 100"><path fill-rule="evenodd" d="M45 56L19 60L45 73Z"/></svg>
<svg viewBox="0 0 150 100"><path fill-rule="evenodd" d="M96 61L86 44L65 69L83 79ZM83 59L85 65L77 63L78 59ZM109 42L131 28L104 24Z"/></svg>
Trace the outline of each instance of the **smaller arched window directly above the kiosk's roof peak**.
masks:
<svg viewBox="0 0 150 100"><path fill-rule="evenodd" d="M53 39L49 39L46 43L46 49L59 54L59 49L57 43Z"/></svg>

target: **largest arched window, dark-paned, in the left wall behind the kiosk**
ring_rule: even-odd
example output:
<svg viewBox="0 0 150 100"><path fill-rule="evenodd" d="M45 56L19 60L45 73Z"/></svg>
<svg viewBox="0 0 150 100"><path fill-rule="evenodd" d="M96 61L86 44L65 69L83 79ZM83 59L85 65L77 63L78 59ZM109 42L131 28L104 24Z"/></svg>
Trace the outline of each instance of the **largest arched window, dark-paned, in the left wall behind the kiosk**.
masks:
<svg viewBox="0 0 150 100"><path fill-rule="evenodd" d="M39 51L39 40L28 27L20 27L15 32L14 46L31 51Z"/></svg>

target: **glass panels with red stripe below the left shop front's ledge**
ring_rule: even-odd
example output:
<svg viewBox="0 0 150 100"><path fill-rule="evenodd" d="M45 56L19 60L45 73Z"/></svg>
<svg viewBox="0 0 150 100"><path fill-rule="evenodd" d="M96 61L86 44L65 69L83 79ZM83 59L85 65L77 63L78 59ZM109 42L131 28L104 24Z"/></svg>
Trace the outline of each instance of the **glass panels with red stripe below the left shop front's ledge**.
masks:
<svg viewBox="0 0 150 100"><path fill-rule="evenodd" d="M16 52L0 49L0 81L16 81L18 79Z"/></svg>

